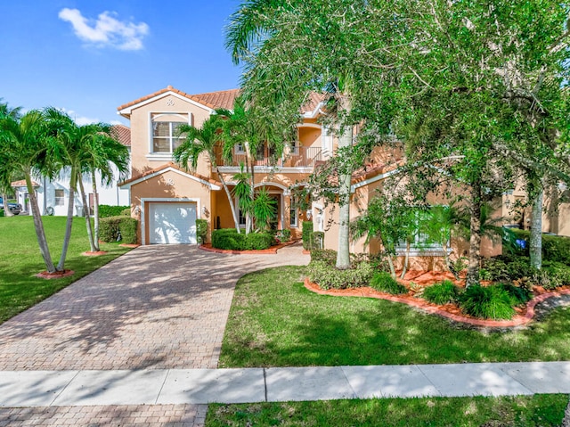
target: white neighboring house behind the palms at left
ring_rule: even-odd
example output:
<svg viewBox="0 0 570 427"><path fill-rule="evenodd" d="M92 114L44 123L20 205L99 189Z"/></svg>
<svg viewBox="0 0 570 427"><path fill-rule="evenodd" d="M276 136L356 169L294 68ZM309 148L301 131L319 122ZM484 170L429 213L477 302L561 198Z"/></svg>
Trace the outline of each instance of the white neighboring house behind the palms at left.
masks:
<svg viewBox="0 0 570 427"><path fill-rule="evenodd" d="M124 125L115 125L114 127L118 131L119 142L126 145L130 157L131 129ZM37 177L37 180L33 181L34 188L36 189L37 205L42 215L67 216L69 201L69 172L67 175L65 172L66 171L64 170L60 177L53 180L45 177ZM113 173L115 181L109 186L102 185L101 175L97 174L97 193L99 195L99 204L110 206L129 206L131 198L130 191L128 189L118 187L118 171L114 167ZM127 173L128 177L130 177L130 165ZM88 203L93 208L94 199L91 177L84 176L83 185L85 187ZM12 182L12 188L16 194L16 200L22 206L22 210L24 212L29 212L28 188L26 186L26 181ZM81 201L81 193L79 193L78 188L75 193L74 204L74 215L83 216L83 202Z"/></svg>

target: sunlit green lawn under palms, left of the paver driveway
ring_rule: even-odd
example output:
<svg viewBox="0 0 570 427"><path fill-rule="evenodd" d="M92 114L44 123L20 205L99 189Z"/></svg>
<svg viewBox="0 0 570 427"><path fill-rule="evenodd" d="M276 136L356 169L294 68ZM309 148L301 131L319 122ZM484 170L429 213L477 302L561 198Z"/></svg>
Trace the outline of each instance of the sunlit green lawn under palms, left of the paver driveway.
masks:
<svg viewBox="0 0 570 427"><path fill-rule="evenodd" d="M66 218L43 219L53 262L57 264ZM118 246L118 243L102 243L101 250L108 253L101 257L82 256L81 253L86 250L89 250L89 241L85 231L85 218L74 218L65 267L74 270L75 275L52 280L38 279L35 275L45 271L45 264L37 245L33 218L0 218L0 323L45 300L129 249Z"/></svg>

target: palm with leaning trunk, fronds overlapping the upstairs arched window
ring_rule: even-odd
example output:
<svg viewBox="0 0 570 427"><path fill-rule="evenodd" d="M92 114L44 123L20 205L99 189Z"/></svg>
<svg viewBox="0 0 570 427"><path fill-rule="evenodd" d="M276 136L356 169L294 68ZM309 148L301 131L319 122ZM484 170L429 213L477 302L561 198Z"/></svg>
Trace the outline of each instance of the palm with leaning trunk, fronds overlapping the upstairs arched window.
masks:
<svg viewBox="0 0 570 427"><path fill-rule="evenodd" d="M210 164L212 165L212 168L216 169L216 174L224 187L225 195L230 203L235 229L240 233L240 220L235 210L235 206L233 205L232 193L230 193L230 190L225 183L224 176L220 172L216 161L216 145L222 140L222 124L222 117L219 115L213 115L202 123L201 128L187 124L178 127L179 134L185 135L186 137L183 144L180 144L180 146L175 149L173 157L175 161L184 168L190 167L192 170L196 170L196 168L198 168L198 159L200 154L208 154Z"/></svg>

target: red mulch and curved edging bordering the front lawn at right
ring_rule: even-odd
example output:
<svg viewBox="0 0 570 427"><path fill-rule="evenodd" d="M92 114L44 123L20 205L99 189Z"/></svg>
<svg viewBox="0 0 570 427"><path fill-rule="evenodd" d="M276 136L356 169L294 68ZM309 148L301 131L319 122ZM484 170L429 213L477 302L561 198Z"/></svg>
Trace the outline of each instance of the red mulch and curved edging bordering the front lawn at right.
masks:
<svg viewBox="0 0 570 427"><path fill-rule="evenodd" d="M398 280L398 282L403 283L408 287L411 282L416 283L420 287L426 287L431 284L442 282L445 279L451 280L453 283L456 283L460 286L465 286L464 279L456 280L452 273L446 271L409 271L406 273L406 275L404 275L404 279ZM570 294L570 286L557 288L556 292L545 291L542 287L535 286L533 287L533 300L530 300L524 308L515 308L517 314L512 319L486 320L465 315L461 313L460 308L454 304L438 306L426 300L416 298L414 296L416 292L412 291L403 295L392 295L385 292L378 292L370 287L323 290L318 284L309 282L308 278L305 279L305 288L307 288L309 291L322 295L333 295L338 297L378 298L380 300L400 302L403 304L408 304L409 306L415 308L420 308L431 314L447 317L456 322L483 327L513 327L527 324L533 319L534 307L538 303L552 297L558 297L563 294Z"/></svg>

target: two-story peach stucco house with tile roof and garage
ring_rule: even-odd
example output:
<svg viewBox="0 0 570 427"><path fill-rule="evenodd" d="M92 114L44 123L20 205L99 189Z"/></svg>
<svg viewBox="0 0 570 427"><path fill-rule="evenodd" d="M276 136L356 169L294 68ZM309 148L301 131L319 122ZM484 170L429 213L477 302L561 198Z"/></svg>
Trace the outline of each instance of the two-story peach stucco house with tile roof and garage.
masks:
<svg viewBox="0 0 570 427"><path fill-rule="evenodd" d="M201 127L215 109L231 110L238 94L238 89L185 94L168 86L118 107L118 113L131 123L132 175L121 187L130 189L142 244L195 243L197 218L208 220L210 230L233 226L229 201L208 157L199 160L197 170L188 171L173 163L172 152L179 144L176 128L181 123ZM334 148L333 138L317 123L321 107L317 95L305 105L297 144L276 165L266 149L256 156L256 187L265 186L277 202L277 228L289 228L295 237L300 236L306 212L292 206L289 188L308 177ZM244 159L240 150L234 147L231 163L222 159L221 152L216 160L229 185L234 184L232 177Z"/></svg>

